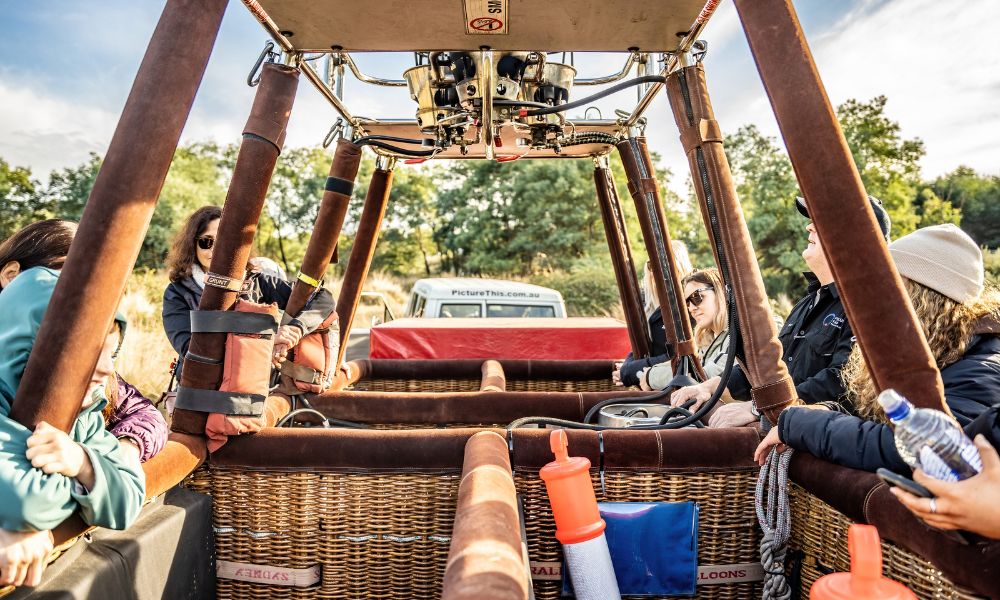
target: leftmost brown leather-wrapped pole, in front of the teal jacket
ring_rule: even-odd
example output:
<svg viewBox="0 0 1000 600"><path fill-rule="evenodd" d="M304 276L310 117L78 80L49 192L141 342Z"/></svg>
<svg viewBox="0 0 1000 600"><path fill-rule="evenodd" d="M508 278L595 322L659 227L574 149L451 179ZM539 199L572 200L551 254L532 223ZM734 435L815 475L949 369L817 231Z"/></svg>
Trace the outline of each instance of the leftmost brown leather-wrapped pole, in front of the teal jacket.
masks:
<svg viewBox="0 0 1000 600"><path fill-rule="evenodd" d="M170 0L150 39L21 379L11 418L69 431L226 10Z"/></svg>

